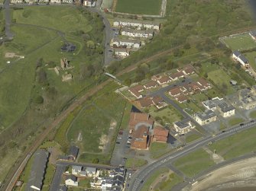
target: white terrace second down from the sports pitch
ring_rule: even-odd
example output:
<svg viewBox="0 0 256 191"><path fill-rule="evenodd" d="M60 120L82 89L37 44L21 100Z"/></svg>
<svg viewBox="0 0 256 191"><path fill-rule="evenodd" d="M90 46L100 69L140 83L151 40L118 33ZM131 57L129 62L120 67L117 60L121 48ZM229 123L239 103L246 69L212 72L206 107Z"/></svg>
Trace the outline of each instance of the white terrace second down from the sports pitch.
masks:
<svg viewBox="0 0 256 191"><path fill-rule="evenodd" d="M128 37L141 37L152 38L154 36L154 30L134 30L128 28L122 28L121 34Z"/></svg>

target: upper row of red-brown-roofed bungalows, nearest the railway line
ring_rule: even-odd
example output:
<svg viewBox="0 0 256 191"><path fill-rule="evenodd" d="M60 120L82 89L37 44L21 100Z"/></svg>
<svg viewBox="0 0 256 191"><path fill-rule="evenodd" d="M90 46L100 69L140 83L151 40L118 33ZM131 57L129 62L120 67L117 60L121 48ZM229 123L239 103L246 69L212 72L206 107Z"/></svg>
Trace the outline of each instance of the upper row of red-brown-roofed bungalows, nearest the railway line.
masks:
<svg viewBox="0 0 256 191"><path fill-rule="evenodd" d="M147 81L144 85L135 85L128 89L128 91L137 99L143 97L141 94L144 90L150 90L152 88L157 88L159 85L170 83L171 81L177 81L179 78L183 78L187 75L195 73L194 68L191 65L186 65L183 69L179 69L178 72L171 75L154 75L151 81ZM203 86L209 86L210 84L203 81Z"/></svg>

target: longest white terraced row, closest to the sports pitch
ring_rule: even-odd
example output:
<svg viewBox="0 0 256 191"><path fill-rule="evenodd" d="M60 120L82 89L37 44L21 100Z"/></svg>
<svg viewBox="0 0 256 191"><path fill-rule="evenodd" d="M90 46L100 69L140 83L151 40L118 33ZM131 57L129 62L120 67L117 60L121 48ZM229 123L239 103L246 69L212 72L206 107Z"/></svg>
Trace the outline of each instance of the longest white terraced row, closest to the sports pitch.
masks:
<svg viewBox="0 0 256 191"><path fill-rule="evenodd" d="M151 30L160 30L160 23L156 21L139 21L139 20L130 20L130 19L115 19L113 22L114 27L134 27L138 30L151 29Z"/></svg>

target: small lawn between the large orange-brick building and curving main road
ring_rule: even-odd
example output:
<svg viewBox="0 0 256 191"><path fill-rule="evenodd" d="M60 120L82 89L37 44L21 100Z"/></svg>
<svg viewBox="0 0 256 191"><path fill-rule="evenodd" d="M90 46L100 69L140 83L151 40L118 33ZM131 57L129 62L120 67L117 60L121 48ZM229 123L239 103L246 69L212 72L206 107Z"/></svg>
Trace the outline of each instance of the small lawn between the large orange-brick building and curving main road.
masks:
<svg viewBox="0 0 256 191"><path fill-rule="evenodd" d="M167 152L169 152L171 149L167 147L167 143L162 142L152 142L151 147L149 149L151 153L151 158L160 158Z"/></svg>

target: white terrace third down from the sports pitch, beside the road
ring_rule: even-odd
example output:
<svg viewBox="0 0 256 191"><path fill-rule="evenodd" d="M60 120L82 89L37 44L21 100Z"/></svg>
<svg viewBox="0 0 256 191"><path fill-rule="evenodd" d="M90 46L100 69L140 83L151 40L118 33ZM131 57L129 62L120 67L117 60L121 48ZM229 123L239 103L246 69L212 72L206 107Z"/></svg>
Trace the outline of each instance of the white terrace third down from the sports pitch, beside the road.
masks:
<svg viewBox="0 0 256 191"><path fill-rule="evenodd" d="M141 47L141 41L140 40L130 40L130 39L113 39L113 47L115 48L134 48L139 49Z"/></svg>

